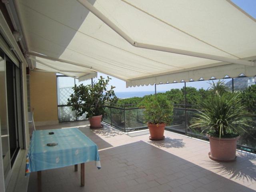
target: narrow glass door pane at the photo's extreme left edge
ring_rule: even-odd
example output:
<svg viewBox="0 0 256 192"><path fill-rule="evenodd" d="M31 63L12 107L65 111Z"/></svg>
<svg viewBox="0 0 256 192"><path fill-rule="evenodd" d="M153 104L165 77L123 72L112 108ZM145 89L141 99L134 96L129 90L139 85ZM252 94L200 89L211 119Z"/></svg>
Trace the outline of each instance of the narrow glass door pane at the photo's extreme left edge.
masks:
<svg viewBox="0 0 256 192"><path fill-rule="evenodd" d="M2 52L0 52L1 54ZM6 68L4 54L0 55L0 126L2 140L2 158L4 164L4 180L10 172L10 150L9 150L9 132L7 116L7 97L6 97Z"/></svg>

